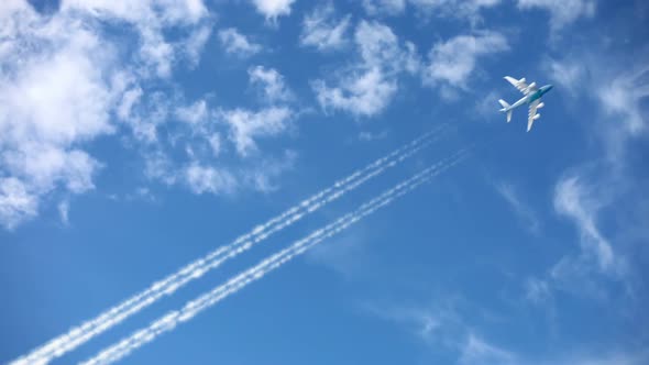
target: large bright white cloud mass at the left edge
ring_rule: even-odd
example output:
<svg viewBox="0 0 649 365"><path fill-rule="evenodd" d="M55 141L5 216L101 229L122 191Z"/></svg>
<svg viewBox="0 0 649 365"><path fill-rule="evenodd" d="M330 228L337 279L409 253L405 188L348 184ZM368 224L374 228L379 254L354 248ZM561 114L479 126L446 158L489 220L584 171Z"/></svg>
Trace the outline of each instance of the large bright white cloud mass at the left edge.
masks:
<svg viewBox="0 0 649 365"><path fill-rule="evenodd" d="M36 215L41 197L57 187L73 193L94 187L99 164L77 145L113 132L109 114L121 90L105 77L119 74L112 48L78 22L45 21L28 4L2 18L12 21L0 41L7 52L0 59L0 176L8 176L0 224L13 228Z"/></svg>

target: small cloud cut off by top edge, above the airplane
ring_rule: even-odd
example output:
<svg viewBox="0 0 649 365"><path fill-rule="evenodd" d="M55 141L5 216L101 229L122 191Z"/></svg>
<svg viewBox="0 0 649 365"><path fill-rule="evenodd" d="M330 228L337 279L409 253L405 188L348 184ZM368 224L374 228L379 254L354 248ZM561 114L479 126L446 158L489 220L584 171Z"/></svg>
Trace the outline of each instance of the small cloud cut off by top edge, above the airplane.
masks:
<svg viewBox="0 0 649 365"><path fill-rule="evenodd" d="M595 0L518 0L520 9L543 9L550 12L550 26L560 30L583 16L595 14Z"/></svg>

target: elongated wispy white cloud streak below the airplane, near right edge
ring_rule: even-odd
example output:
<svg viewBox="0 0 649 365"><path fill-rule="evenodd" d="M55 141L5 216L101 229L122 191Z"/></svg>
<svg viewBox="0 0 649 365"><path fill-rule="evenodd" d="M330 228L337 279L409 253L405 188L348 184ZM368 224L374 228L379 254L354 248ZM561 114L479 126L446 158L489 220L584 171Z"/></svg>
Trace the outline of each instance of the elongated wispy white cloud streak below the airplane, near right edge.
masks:
<svg viewBox="0 0 649 365"><path fill-rule="evenodd" d="M610 243L596 224L601 202L591 189L575 176L560 179L554 190L554 209L574 221L581 233L582 248L595 256L600 268L616 272L618 263Z"/></svg>

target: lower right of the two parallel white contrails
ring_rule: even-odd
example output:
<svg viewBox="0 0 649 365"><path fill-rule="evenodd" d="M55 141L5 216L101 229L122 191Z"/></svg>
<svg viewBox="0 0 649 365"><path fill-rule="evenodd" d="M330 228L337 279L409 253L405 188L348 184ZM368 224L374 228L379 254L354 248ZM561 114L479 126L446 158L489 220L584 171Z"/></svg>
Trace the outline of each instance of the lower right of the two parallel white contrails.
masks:
<svg viewBox="0 0 649 365"><path fill-rule="evenodd" d="M271 255L257 265L232 277L211 291L199 296L195 300L188 301L180 310L174 310L166 313L156 321L152 322L148 327L141 329L131 334L129 338L125 338L114 345L102 350L95 357L81 363L81 365L111 364L123 358L131 352L154 341L161 334L172 331L177 324L189 321L201 311L215 306L230 295L238 292L249 284L261 279L266 274L293 259L295 256L302 254L323 240L340 233L364 217L372 214L376 210L389 204L392 201L406 195L421 184L427 182L432 177L460 163L463 158L465 158L466 154L466 150L461 151L452 157L449 157L441 163L435 164L421 170L413 177L396 185L392 189L384 191L378 197L362 204L355 211L344 214L324 228L314 231L308 236L296 241L290 246Z"/></svg>

